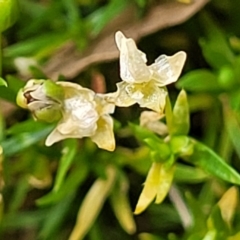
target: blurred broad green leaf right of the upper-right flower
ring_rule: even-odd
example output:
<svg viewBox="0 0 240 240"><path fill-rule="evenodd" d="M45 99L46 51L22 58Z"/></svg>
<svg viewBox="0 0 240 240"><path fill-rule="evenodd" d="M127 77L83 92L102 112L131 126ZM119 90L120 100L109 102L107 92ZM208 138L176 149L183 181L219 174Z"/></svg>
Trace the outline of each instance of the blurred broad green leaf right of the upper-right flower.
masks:
<svg viewBox="0 0 240 240"><path fill-rule="evenodd" d="M192 92L216 92L221 90L217 75L207 69L194 70L185 74L176 86Z"/></svg>

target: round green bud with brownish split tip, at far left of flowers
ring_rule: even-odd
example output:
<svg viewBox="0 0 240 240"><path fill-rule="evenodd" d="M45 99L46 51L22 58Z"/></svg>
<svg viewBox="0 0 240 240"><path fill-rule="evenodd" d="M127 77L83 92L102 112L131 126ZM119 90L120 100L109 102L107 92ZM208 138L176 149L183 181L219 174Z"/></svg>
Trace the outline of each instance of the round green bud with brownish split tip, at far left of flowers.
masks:
<svg viewBox="0 0 240 240"><path fill-rule="evenodd" d="M17 104L29 109L37 120L55 122L62 117L64 90L51 80L28 81L18 92Z"/></svg>

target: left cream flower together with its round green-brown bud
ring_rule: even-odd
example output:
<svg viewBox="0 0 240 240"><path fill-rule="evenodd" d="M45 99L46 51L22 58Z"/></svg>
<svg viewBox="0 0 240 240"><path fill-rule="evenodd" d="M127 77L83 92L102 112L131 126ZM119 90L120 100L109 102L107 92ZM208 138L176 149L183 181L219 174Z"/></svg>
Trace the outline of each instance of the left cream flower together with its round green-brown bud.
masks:
<svg viewBox="0 0 240 240"><path fill-rule="evenodd" d="M66 138L90 137L99 148L115 149L113 120L109 116L115 105L107 102L103 94L75 83L32 79L19 91L17 103L29 109L37 120L58 121L47 137L47 146Z"/></svg>

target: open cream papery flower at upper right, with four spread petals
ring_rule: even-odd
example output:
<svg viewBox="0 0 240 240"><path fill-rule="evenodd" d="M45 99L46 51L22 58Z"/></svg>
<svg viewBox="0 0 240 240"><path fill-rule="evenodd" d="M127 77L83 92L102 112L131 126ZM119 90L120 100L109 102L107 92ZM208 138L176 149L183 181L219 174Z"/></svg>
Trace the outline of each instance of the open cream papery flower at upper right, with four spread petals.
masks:
<svg viewBox="0 0 240 240"><path fill-rule="evenodd" d="M127 107L138 103L141 107L163 112L167 95L164 86L177 81L186 60L180 51L173 56L161 55L147 66L146 55L137 49L133 39L116 33L116 44L120 51L120 76L117 92L109 94L110 101Z"/></svg>

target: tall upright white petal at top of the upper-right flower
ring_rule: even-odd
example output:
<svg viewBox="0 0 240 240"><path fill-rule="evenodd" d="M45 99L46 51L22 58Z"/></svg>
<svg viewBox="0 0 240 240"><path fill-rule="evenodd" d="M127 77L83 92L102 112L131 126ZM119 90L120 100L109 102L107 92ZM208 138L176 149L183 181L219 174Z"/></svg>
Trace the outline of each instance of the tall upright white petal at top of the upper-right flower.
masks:
<svg viewBox="0 0 240 240"><path fill-rule="evenodd" d="M146 55L137 49L133 39L125 38L122 32L115 35L120 51L120 75L128 83L141 83L150 80L151 71L146 65Z"/></svg>

